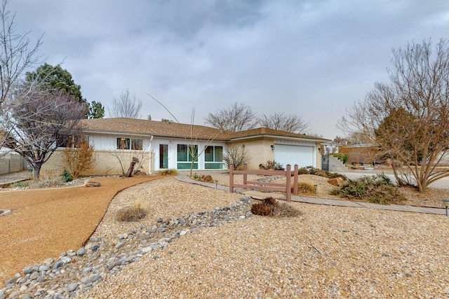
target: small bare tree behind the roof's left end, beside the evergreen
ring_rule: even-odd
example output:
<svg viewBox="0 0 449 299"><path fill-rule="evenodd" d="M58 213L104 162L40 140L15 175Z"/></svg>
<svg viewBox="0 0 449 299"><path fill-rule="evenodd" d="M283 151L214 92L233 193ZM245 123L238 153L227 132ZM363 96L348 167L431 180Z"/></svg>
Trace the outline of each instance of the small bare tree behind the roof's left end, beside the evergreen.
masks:
<svg viewBox="0 0 449 299"><path fill-rule="evenodd" d="M121 92L119 99L112 100L112 109L107 111L113 118L141 118L140 109L142 109L142 101L135 95L131 97L127 89Z"/></svg>

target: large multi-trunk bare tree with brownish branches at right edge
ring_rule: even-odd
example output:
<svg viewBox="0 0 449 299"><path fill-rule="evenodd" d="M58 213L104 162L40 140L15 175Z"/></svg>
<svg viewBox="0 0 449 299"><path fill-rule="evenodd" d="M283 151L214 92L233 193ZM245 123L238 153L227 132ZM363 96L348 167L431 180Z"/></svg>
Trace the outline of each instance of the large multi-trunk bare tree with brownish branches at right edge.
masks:
<svg viewBox="0 0 449 299"><path fill-rule="evenodd" d="M449 176L439 162L449 151L449 42L393 50L390 83L376 83L364 101L347 109L339 126L363 133L391 159L396 181L420 192Z"/></svg>

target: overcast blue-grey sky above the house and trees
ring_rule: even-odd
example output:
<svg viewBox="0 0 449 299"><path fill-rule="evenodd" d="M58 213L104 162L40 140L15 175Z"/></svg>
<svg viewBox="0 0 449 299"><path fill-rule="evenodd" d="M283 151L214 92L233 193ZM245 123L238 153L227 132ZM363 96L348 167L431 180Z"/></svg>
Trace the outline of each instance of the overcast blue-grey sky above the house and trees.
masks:
<svg viewBox="0 0 449 299"><path fill-rule="evenodd" d="M112 107L129 89L142 118L203 125L235 102L296 113L309 133L337 120L376 81L391 49L449 38L449 1L11 0L18 32L63 62L88 102Z"/></svg>

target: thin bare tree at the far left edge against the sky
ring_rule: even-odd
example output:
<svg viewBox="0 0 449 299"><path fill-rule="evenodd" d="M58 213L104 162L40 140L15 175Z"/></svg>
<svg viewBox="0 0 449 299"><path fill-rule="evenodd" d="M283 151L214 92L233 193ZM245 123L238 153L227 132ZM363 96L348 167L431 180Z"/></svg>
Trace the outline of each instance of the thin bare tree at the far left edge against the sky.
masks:
<svg viewBox="0 0 449 299"><path fill-rule="evenodd" d="M7 10L7 4L7 0L2 0L0 6L0 148L9 134L11 92L20 85L27 69L41 60L37 55L41 39L31 44L28 32L16 32L15 13Z"/></svg>

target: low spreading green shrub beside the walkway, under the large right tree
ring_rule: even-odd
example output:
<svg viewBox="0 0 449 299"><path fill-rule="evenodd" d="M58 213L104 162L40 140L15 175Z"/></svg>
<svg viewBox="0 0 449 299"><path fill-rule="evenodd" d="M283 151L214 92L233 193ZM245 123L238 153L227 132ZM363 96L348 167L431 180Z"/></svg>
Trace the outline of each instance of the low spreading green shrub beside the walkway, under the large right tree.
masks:
<svg viewBox="0 0 449 299"><path fill-rule="evenodd" d="M331 194L349 199L359 198L375 204L399 204L406 200L385 174L347 180L340 188L331 191Z"/></svg>

